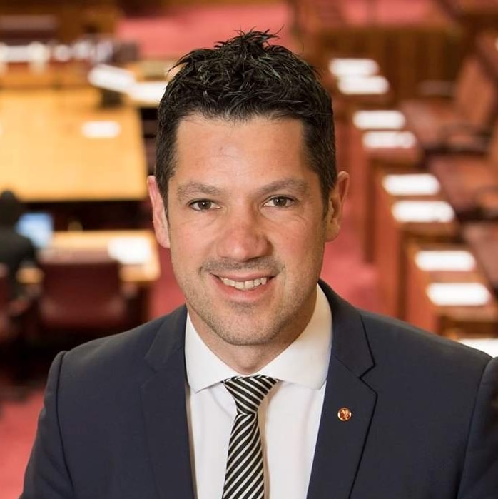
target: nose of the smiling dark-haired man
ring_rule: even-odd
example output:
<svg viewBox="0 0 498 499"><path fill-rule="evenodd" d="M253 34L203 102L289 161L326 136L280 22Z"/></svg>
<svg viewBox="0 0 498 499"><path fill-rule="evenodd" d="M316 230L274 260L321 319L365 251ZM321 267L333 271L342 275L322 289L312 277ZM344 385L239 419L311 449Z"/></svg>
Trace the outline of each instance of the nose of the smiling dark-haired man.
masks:
<svg viewBox="0 0 498 499"><path fill-rule="evenodd" d="M261 214L250 208L227 213L216 249L220 258L240 262L268 256L270 241L265 233L265 221Z"/></svg>

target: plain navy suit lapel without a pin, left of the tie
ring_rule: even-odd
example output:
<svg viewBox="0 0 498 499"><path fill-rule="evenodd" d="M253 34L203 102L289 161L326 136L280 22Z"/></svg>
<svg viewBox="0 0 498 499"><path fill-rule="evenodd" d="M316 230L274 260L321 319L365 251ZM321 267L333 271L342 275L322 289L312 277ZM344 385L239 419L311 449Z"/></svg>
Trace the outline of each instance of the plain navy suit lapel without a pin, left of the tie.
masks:
<svg viewBox="0 0 498 499"><path fill-rule="evenodd" d="M186 413L186 309L166 318L146 361L154 374L142 386L146 437L161 499L193 499Z"/></svg>

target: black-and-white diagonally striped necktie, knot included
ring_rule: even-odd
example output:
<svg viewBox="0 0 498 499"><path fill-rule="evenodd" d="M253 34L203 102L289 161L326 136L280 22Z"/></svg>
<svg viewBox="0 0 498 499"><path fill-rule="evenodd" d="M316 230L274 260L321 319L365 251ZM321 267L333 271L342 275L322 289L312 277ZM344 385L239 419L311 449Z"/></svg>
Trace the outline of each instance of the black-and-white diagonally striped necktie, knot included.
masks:
<svg viewBox="0 0 498 499"><path fill-rule="evenodd" d="M265 497L258 408L275 383L277 380L263 375L235 376L223 381L237 406L228 445L223 499Z"/></svg>

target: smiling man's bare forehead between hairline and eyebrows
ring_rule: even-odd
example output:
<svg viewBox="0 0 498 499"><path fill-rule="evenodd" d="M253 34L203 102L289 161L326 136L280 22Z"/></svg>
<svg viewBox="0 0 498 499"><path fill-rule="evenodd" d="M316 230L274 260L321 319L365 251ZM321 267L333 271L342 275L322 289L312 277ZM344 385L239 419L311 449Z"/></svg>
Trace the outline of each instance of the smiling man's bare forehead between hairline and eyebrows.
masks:
<svg viewBox="0 0 498 499"><path fill-rule="evenodd" d="M255 175L274 180L292 176L310 165L301 121L293 118L256 115L249 119L226 119L190 114L178 126L171 174L182 182L187 178L210 178L224 169L230 176L251 165ZM262 168L263 167L263 168ZM271 176L271 175L270 175Z"/></svg>

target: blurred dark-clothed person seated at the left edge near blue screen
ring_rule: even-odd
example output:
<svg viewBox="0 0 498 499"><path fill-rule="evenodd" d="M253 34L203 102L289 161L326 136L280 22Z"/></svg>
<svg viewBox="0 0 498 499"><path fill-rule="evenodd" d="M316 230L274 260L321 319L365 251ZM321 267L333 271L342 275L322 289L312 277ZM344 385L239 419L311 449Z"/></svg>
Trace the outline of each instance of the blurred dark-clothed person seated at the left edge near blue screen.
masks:
<svg viewBox="0 0 498 499"><path fill-rule="evenodd" d="M11 191L0 193L0 263L9 268L11 298L23 294L21 284L16 280L16 273L22 263L36 261L33 243L16 232L15 226L24 211L19 198Z"/></svg>

